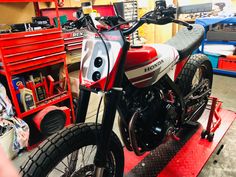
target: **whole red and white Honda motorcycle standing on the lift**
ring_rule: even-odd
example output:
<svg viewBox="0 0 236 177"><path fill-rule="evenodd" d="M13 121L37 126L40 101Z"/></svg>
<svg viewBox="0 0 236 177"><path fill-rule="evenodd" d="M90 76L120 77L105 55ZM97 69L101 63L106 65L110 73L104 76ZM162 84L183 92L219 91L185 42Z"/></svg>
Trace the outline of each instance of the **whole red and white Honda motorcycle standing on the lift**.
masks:
<svg viewBox="0 0 236 177"><path fill-rule="evenodd" d="M212 66L205 55L194 54L204 36L200 25L174 19L176 10L156 1L128 29L120 17L98 20L109 28L97 30L89 15L84 34L77 125L49 137L28 162L23 176L121 177L123 146L112 131L119 112L119 128L125 147L142 155L157 148L189 121L203 113L211 93ZM130 46L126 37L143 24L184 25L165 44ZM84 123L90 93L104 98L101 125ZM97 115L98 117L98 115Z"/></svg>

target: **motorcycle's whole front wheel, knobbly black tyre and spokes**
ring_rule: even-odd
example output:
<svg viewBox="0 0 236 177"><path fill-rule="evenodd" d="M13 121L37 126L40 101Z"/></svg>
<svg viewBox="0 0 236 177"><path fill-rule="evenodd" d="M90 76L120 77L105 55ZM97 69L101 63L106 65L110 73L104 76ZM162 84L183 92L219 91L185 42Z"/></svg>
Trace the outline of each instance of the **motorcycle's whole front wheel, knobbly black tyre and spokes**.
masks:
<svg viewBox="0 0 236 177"><path fill-rule="evenodd" d="M97 130L94 124L80 124L52 135L21 167L22 177L93 177ZM123 147L112 133L103 176L121 177L123 169Z"/></svg>

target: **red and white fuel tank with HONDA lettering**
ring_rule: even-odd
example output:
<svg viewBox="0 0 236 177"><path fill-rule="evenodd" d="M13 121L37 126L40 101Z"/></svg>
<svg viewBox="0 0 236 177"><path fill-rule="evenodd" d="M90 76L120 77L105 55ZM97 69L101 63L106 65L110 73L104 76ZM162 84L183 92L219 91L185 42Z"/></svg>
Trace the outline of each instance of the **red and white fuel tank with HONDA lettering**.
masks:
<svg viewBox="0 0 236 177"><path fill-rule="evenodd" d="M178 51L166 44L131 48L127 53L125 74L134 86L148 87L173 69L178 59Z"/></svg>

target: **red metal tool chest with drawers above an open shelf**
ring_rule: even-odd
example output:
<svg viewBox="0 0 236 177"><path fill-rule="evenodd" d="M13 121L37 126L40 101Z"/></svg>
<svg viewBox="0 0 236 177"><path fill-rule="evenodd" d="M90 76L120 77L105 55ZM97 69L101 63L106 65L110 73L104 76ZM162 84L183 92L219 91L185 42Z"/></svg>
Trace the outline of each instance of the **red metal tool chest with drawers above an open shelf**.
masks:
<svg viewBox="0 0 236 177"><path fill-rule="evenodd" d="M57 0L0 0L1 2L54 2L56 6L55 14L58 17ZM66 52L60 27L0 34L0 62L0 74L6 77L17 117L23 119L47 106L69 100L71 117L73 120L75 119L66 65ZM17 100L17 91L13 87L12 77L56 64L62 64L64 67L67 89L54 95L49 95L45 100L36 102L35 109L26 112L21 111Z"/></svg>

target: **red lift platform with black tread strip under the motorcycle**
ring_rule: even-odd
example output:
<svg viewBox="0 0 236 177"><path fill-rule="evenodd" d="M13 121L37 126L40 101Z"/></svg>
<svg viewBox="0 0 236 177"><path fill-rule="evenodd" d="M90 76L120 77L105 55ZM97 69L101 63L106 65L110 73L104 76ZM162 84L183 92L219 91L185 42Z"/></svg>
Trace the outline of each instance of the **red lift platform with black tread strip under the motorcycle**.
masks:
<svg viewBox="0 0 236 177"><path fill-rule="evenodd" d="M204 112L199 120L201 125L181 130L180 141L170 140L140 157L125 149L125 177L197 176L236 119L236 113L219 108L214 118L221 117L220 126L215 130L213 141L209 142L201 138L209 114L210 110Z"/></svg>

